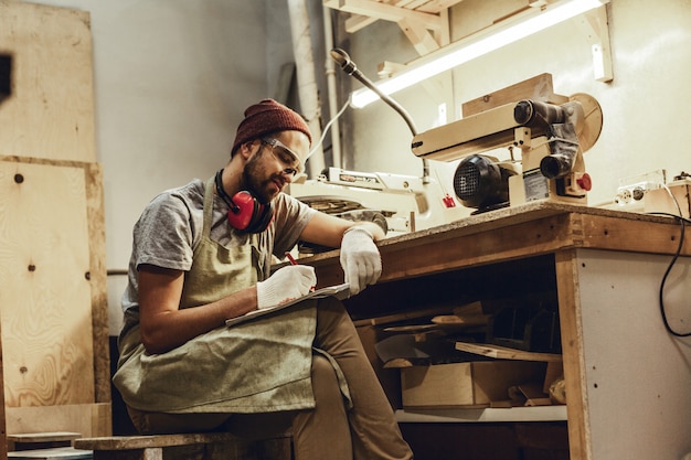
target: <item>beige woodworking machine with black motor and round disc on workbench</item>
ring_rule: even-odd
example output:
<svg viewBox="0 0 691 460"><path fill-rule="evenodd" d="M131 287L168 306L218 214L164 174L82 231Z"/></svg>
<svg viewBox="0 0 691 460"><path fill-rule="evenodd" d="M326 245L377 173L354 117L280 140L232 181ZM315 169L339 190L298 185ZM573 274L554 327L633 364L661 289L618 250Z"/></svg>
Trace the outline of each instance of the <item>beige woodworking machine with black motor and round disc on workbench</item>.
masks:
<svg viewBox="0 0 691 460"><path fill-rule="evenodd" d="M599 137L602 121L599 104L585 94L561 105L523 99L419 133L412 150L421 158L463 159L454 190L480 212L536 200L587 204L592 184L583 152ZM480 154L499 148L509 148L512 160Z"/></svg>

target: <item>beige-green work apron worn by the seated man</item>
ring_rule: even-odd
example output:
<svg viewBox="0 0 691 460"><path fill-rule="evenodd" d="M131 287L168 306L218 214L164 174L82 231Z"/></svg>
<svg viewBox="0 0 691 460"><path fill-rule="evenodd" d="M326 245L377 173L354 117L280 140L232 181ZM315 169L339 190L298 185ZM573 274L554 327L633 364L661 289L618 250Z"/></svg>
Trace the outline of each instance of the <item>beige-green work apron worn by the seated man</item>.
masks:
<svg viewBox="0 0 691 460"><path fill-rule="evenodd" d="M185 276L180 308L221 299L257 281L256 236L240 247L210 237L213 180L204 227ZM259 274L264 278L264 274ZM139 327L120 339L114 383L128 406L162 413L266 413L311 408L316 301L280 314L219 328L162 354L145 351Z"/></svg>

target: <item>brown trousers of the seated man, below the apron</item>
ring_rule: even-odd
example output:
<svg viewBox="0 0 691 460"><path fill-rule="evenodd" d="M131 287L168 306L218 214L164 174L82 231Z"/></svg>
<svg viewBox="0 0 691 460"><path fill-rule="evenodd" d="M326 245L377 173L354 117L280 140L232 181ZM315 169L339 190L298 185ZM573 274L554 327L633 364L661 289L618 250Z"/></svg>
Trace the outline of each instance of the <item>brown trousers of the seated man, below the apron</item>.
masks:
<svg viewBox="0 0 691 460"><path fill-rule="evenodd" d="M317 307L315 346L326 351L346 376L353 407L348 409L331 363L315 354L312 410L267 414L161 414L129 408L145 435L230 431L249 439L285 432L293 426L296 460L412 459L393 410L342 303L327 298Z"/></svg>

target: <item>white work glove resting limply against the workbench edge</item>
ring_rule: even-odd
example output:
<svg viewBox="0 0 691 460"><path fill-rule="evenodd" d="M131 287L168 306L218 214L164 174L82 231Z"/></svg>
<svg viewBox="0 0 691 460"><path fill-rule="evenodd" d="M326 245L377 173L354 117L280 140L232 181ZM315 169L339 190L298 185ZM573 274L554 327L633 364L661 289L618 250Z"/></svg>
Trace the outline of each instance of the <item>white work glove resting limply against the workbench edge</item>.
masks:
<svg viewBox="0 0 691 460"><path fill-rule="evenodd" d="M382 259L374 238L362 227L350 227L341 242L341 267L350 293L357 295L368 285L374 285L382 274Z"/></svg>

